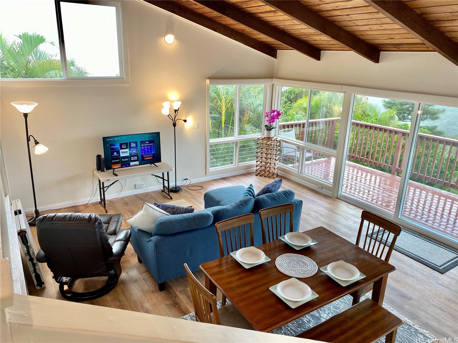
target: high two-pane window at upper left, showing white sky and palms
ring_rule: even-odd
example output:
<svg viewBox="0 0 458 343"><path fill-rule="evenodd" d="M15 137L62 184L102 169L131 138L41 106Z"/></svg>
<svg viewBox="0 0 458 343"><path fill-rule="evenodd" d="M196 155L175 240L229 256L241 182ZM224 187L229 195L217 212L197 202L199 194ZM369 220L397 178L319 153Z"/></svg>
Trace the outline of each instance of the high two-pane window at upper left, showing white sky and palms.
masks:
<svg viewBox="0 0 458 343"><path fill-rule="evenodd" d="M120 11L114 1L1 1L1 79L124 79Z"/></svg>

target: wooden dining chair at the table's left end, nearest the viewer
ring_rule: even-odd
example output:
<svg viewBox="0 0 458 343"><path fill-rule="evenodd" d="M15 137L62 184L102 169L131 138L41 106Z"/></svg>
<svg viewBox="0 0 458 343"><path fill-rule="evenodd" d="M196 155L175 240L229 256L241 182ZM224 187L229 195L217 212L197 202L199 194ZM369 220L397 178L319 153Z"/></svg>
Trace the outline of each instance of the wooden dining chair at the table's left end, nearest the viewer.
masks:
<svg viewBox="0 0 458 343"><path fill-rule="evenodd" d="M216 297L196 279L185 263L186 276L191 290L192 304L196 322L239 327L254 330L254 327L232 304L227 304L218 310ZM213 310L213 311L212 311Z"/></svg>

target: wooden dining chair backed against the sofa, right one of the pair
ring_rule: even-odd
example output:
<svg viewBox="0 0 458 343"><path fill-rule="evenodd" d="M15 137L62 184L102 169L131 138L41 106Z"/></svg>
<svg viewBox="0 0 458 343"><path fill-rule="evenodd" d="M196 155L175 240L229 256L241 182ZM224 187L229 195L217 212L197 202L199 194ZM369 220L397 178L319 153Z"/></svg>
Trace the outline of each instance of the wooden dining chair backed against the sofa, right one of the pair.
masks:
<svg viewBox="0 0 458 343"><path fill-rule="evenodd" d="M262 244L275 241L278 237L293 232L294 204L283 204L259 211L261 219ZM289 228L286 228L286 218L289 215ZM287 231L288 230L288 231Z"/></svg>

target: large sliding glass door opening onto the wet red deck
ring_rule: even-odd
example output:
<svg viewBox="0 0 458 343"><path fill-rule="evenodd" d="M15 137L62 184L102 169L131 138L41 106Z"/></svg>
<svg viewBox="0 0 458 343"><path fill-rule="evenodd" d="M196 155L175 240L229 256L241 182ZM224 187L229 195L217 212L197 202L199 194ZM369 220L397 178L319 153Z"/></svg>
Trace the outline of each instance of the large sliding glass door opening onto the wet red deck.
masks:
<svg viewBox="0 0 458 343"><path fill-rule="evenodd" d="M355 94L348 125L339 196L458 241L458 108Z"/></svg>

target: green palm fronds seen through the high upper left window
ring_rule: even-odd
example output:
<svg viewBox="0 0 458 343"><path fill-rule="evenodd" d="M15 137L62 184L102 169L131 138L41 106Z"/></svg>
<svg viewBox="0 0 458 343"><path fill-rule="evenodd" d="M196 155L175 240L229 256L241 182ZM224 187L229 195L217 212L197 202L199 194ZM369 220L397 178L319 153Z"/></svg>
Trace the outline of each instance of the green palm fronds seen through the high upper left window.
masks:
<svg viewBox="0 0 458 343"><path fill-rule="evenodd" d="M0 77L2 79L56 79L62 78L60 58L48 54L40 46L49 43L36 32L24 32L19 42L10 42L0 33ZM74 59L67 60L69 76L88 76L86 69L79 67Z"/></svg>

